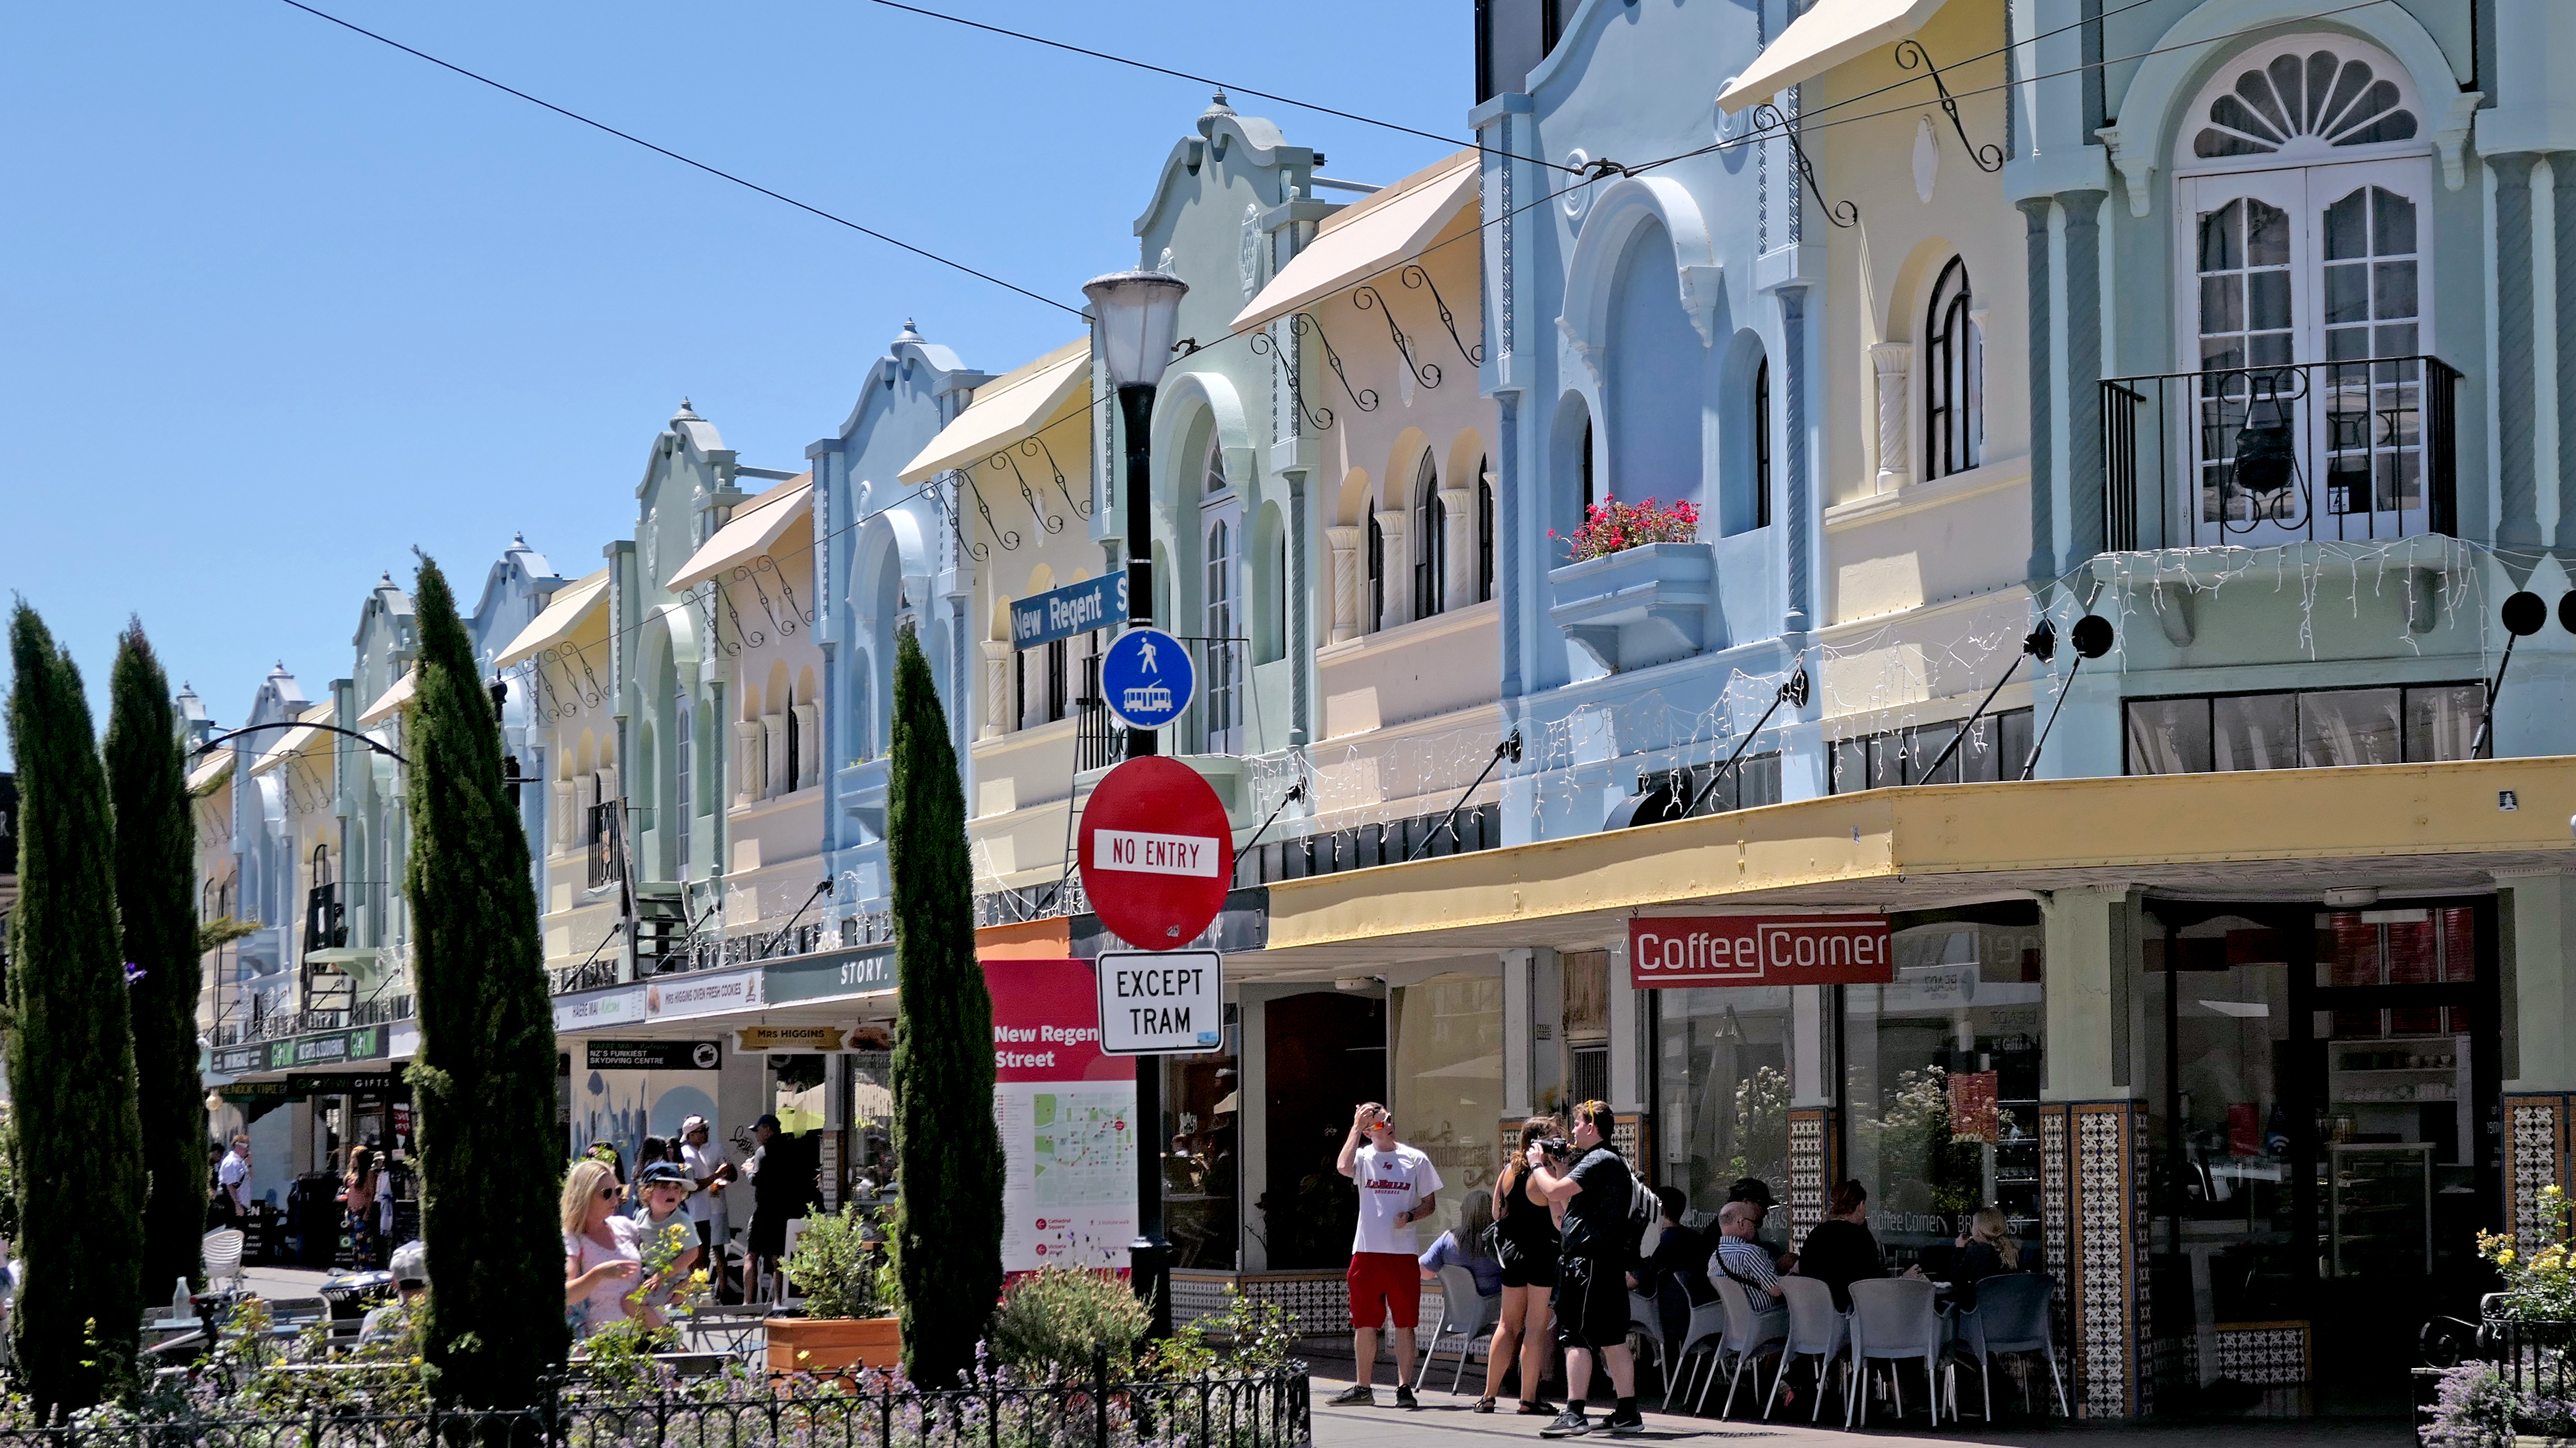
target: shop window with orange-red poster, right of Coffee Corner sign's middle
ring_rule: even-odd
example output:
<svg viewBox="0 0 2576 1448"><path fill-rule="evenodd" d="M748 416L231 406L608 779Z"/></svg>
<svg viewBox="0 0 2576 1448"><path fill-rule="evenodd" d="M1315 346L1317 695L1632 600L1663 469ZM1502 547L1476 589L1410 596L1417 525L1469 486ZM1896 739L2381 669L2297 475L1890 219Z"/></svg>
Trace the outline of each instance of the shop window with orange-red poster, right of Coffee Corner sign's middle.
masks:
<svg viewBox="0 0 2576 1448"><path fill-rule="evenodd" d="M1891 1268L1940 1268L1981 1206L2040 1265L2038 907L1896 925L1896 982L1842 987L1844 1175Z"/></svg>

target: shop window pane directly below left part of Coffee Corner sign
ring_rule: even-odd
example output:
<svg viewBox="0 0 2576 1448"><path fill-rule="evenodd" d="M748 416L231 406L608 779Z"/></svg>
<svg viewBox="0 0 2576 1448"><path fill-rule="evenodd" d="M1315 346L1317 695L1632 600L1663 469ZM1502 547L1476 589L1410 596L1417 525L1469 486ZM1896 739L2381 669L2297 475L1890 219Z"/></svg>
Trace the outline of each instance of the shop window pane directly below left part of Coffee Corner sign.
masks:
<svg viewBox="0 0 2576 1448"><path fill-rule="evenodd" d="M1654 997L1656 1183L1716 1216L1762 1177L1788 1201L1790 987L1659 989Z"/></svg>

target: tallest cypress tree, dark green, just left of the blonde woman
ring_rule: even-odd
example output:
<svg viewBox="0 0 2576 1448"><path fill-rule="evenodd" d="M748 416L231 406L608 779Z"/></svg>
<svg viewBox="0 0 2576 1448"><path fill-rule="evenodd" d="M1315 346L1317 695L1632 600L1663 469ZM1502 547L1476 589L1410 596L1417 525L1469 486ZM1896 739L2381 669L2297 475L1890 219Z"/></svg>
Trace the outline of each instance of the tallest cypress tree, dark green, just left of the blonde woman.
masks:
<svg viewBox="0 0 2576 1448"><path fill-rule="evenodd" d="M502 783L500 719L438 564L415 593L410 706L412 971L420 1002L420 1237L453 1262L430 1293L422 1371L456 1407L523 1409L562 1368L564 1234L554 1002L528 835Z"/></svg>

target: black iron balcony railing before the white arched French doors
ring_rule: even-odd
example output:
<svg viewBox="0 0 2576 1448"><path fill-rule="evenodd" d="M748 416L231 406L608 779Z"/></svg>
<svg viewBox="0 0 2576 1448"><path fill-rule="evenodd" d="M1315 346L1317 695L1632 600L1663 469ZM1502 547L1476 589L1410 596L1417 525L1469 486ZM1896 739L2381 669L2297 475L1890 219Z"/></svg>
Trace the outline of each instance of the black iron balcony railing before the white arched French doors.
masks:
<svg viewBox="0 0 2576 1448"><path fill-rule="evenodd" d="M2458 533L2460 368L2432 356L2102 381L2102 546Z"/></svg>

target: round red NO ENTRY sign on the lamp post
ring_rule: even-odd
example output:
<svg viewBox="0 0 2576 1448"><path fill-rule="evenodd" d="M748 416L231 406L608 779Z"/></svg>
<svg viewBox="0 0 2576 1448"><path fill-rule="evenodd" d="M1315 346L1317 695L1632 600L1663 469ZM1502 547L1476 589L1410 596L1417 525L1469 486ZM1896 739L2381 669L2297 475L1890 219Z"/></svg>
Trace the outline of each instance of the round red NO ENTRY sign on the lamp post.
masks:
<svg viewBox="0 0 2576 1448"><path fill-rule="evenodd" d="M1082 804L1082 894L1121 940L1177 951L1226 907L1234 824L1226 806L1172 755L1126 760Z"/></svg>

